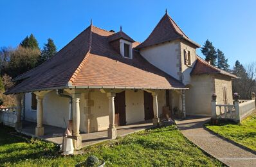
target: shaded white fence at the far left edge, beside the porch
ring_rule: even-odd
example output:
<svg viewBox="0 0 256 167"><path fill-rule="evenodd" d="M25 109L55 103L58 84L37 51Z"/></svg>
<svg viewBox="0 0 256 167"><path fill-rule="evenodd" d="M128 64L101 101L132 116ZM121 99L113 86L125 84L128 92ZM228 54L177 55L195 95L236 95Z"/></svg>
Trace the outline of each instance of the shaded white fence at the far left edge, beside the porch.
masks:
<svg viewBox="0 0 256 167"><path fill-rule="evenodd" d="M16 107L6 107L0 109L0 123L9 127L15 127L17 121Z"/></svg>

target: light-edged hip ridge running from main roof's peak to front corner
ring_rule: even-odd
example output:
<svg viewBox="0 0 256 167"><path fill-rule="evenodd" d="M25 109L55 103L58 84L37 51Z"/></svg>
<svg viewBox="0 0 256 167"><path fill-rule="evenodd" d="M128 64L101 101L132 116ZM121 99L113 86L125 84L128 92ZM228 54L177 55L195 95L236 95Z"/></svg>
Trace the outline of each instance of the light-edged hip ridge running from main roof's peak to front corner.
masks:
<svg viewBox="0 0 256 167"><path fill-rule="evenodd" d="M77 67L77 69L73 73L73 75L69 78L68 84L70 82L73 83L75 81L75 78L77 78L78 73L81 71L82 67L86 63L86 60L87 60L87 58L89 57L89 55L91 53L91 45L92 45L92 40L93 40L93 26L91 25L90 28L91 28L91 30L90 30L90 35L89 35L88 51L87 51L86 55L84 56L84 59L82 60L82 62L80 62L79 66Z"/></svg>

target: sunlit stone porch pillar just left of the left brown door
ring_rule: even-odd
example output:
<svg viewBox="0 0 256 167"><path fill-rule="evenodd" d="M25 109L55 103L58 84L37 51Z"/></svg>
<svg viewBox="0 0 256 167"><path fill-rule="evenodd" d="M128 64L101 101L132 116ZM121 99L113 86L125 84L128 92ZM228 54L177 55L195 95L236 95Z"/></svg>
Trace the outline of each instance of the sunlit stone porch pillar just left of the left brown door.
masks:
<svg viewBox="0 0 256 167"><path fill-rule="evenodd" d="M109 128L107 128L107 137L110 139L116 138L116 127L114 127L114 96L113 92L107 92L107 98L109 99Z"/></svg>

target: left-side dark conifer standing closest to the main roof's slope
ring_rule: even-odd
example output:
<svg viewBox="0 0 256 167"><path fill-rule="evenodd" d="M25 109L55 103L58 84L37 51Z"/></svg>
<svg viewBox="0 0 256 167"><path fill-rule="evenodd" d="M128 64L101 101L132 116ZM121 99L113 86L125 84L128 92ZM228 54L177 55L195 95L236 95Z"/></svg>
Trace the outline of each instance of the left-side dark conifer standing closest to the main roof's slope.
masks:
<svg viewBox="0 0 256 167"><path fill-rule="evenodd" d="M41 57L39 64L49 60L53 55L57 53L57 48L52 39L48 39L48 43L44 44L44 48L41 51Z"/></svg>

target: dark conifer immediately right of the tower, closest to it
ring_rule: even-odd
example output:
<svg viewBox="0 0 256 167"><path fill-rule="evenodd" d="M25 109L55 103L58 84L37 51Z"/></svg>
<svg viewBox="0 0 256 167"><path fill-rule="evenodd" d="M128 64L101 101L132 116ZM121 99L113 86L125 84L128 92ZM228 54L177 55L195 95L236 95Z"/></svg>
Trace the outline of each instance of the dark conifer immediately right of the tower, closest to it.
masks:
<svg viewBox="0 0 256 167"><path fill-rule="evenodd" d="M213 66L216 65L216 50L212 45L212 42L210 42L208 39L205 41L201 52L203 53L203 55L205 55L205 60L207 62L210 62L210 64L212 64Z"/></svg>

